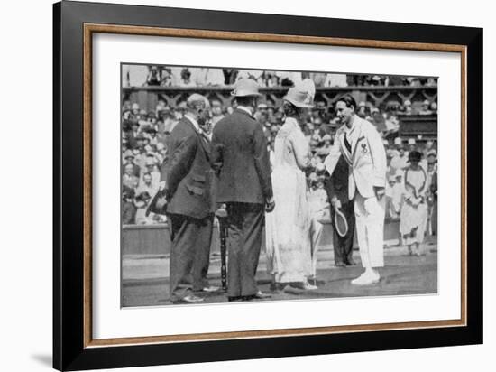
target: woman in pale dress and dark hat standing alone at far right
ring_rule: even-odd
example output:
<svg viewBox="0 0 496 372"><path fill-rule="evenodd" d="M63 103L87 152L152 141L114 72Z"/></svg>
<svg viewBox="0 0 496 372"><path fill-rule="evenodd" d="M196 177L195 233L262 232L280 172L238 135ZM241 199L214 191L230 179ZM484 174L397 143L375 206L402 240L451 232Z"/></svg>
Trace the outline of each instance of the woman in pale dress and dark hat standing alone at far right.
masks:
<svg viewBox="0 0 496 372"><path fill-rule="evenodd" d="M419 165L422 154L409 153L409 167L403 176L403 203L400 212L400 234L409 246L409 255L420 256L420 244L424 241L427 227L427 198L429 189L427 173Z"/></svg>

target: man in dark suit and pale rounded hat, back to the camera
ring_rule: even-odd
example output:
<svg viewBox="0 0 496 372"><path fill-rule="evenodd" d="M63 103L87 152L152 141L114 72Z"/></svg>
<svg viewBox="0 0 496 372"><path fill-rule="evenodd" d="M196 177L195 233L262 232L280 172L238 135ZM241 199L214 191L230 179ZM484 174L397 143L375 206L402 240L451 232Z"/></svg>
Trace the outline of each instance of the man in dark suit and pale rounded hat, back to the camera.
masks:
<svg viewBox="0 0 496 372"><path fill-rule="evenodd" d="M264 207L274 208L271 165L262 126L254 117L258 84L240 79L234 92L237 107L217 122L212 137L212 166L216 171L216 200L227 207L229 301L266 298L258 290L255 274L262 231Z"/></svg>

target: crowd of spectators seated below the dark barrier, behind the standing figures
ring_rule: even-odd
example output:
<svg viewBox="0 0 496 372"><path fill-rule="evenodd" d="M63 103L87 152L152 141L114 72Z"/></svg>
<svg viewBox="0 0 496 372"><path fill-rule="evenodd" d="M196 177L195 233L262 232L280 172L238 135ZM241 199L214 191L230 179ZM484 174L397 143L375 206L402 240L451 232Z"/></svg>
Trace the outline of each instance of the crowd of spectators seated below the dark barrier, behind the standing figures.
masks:
<svg viewBox="0 0 496 372"><path fill-rule="evenodd" d="M265 71L260 72L261 76L265 76ZM237 71L237 73L243 73L243 71ZM161 70L152 69L147 79L160 83L160 76L163 76ZM223 77L226 76L223 73ZM218 79L221 79L220 75ZM213 127L220 119L233 111L235 101L230 101L226 105L220 99L214 98L211 99L210 105L212 116L207 135L211 135ZM145 211L148 203L158 191L161 164L167 158L168 136L184 115L185 109L186 106L183 103L170 107L160 100L154 109L147 111L136 102L124 101L122 111L123 224L152 224L164 221L163 216L153 214L146 216ZM399 215L398 192L400 188L395 185L400 185L401 172L409 165L409 151L418 150L424 154L421 165L426 172L434 172L437 162L436 141L426 141L423 138L401 139L398 136L400 128L398 116L430 115L435 114L436 110L436 102L427 100L415 106L409 100L402 105L386 105L385 107L373 107L371 102L365 101L358 104L357 114L372 122L383 137L389 164L387 215L390 218L396 218ZM263 127L268 151L273 160L274 139L284 120L281 107L276 107L271 101L264 101L258 105L254 116ZM324 190L326 176L324 160L334 142L335 130L338 126L334 107L328 106L324 101L317 101L316 106L308 111L306 124L302 126L311 151L311 165L307 170L310 191L308 197L312 210L319 219L328 218L326 208L328 204Z"/></svg>

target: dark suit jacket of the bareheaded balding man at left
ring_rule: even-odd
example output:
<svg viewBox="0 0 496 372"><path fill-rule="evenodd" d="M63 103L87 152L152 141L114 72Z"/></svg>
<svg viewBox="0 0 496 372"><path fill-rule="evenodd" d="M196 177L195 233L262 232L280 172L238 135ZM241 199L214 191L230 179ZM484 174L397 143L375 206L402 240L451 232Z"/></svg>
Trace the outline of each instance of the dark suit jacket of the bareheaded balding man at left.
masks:
<svg viewBox="0 0 496 372"><path fill-rule="evenodd" d="M209 144L184 117L170 133L169 158L161 168L166 181L167 213L204 219L213 213Z"/></svg>

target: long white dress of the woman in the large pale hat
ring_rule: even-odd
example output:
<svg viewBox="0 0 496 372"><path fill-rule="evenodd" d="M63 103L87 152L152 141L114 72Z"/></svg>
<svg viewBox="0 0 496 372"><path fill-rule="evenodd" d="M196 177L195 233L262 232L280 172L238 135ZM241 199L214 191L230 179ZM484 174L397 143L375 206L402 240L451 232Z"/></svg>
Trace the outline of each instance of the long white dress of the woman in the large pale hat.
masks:
<svg viewBox="0 0 496 372"><path fill-rule="evenodd" d="M308 204L305 173L308 141L294 118L287 118L275 139L272 188L275 209L266 215L267 269L277 283L315 277L317 239L322 226Z"/></svg>

